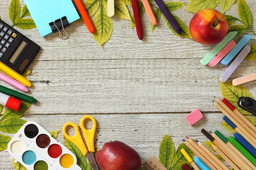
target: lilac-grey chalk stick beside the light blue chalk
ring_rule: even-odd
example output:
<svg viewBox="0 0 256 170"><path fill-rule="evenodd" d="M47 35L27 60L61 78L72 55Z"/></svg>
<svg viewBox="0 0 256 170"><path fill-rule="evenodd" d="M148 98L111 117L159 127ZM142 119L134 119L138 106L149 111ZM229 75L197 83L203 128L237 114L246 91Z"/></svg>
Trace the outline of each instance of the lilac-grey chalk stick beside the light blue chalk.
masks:
<svg viewBox="0 0 256 170"><path fill-rule="evenodd" d="M230 64L226 71L220 76L220 82L224 83L230 75L236 70L238 65L245 59L247 54L251 51L251 46L246 44L243 50L238 54L235 60Z"/></svg>

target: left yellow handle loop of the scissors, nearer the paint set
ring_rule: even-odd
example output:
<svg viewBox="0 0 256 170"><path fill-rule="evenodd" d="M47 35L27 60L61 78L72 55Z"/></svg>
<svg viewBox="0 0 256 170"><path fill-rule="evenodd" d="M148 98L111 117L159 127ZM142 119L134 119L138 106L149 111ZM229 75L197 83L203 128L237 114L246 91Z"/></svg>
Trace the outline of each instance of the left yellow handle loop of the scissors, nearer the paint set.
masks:
<svg viewBox="0 0 256 170"><path fill-rule="evenodd" d="M75 129L76 133L74 136L70 136L67 134L67 132L66 132L67 126L72 126ZM83 153L84 156L87 154L88 150L85 147L85 144L84 144L81 134L79 132L79 127L76 124L74 124L73 122L67 122L63 126L63 135L65 138L72 141L81 150L81 152Z"/></svg>

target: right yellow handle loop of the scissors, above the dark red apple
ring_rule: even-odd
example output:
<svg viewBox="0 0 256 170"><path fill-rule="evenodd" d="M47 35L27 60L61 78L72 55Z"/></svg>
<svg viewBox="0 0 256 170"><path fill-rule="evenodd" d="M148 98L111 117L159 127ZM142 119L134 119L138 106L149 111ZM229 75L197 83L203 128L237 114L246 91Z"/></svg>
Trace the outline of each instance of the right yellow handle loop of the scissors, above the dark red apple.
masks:
<svg viewBox="0 0 256 170"><path fill-rule="evenodd" d="M85 119L91 119L92 120L92 128L90 130L86 129L84 126L84 121ZM80 128L83 131L83 135L85 136L85 140L87 143L87 147L88 150L90 152L94 152L94 135L95 135L95 130L97 127L97 123L96 120L94 119L94 117L90 116L90 115L85 115L84 117L82 117L81 121L80 121Z"/></svg>

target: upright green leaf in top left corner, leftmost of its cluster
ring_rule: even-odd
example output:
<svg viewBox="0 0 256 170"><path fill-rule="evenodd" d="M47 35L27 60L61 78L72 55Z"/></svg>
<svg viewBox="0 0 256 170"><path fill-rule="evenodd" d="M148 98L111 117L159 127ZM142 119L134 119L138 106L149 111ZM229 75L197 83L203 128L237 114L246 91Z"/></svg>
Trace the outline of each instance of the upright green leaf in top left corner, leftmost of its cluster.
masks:
<svg viewBox="0 0 256 170"><path fill-rule="evenodd" d="M9 7L9 18L13 24L19 20L20 18L20 1L19 0L11 0L11 4Z"/></svg>

